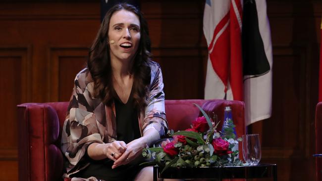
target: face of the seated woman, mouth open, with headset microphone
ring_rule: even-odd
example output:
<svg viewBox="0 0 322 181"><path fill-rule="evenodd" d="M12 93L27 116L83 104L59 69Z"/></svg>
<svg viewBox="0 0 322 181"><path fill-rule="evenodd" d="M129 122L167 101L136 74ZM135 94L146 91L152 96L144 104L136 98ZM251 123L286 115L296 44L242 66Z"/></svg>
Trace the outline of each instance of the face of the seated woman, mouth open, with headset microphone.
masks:
<svg viewBox="0 0 322 181"><path fill-rule="evenodd" d="M110 58L130 61L140 43L139 17L122 9L112 15L108 26ZM111 44L111 41L114 43Z"/></svg>

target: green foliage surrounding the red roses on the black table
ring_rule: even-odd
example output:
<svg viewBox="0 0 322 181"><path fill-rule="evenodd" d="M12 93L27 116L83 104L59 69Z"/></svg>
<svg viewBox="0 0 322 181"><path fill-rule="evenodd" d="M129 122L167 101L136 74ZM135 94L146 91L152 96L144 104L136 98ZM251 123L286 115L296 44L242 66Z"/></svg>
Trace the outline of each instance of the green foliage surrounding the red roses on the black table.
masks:
<svg viewBox="0 0 322 181"><path fill-rule="evenodd" d="M196 105L196 104L195 104ZM174 142L174 149L178 150L178 154L170 156L163 151L161 147L146 148L143 150L142 155L150 162L143 163L145 165L158 165L162 168L161 173L169 167L222 167L222 166L241 166L244 163L238 158L238 150L233 151L235 143L229 143L228 150L233 151L227 155L217 155L213 146L213 139L221 137L223 140L234 139L233 142L241 141L241 138L236 139L234 134L235 125L232 120L228 120L227 127L224 132L219 134L216 128L219 123L213 127L211 119L204 110L196 105L204 114L207 123L210 127L206 133L196 133L193 131L168 131L169 136L182 135L185 136L187 144L182 142ZM142 165L142 164L141 164Z"/></svg>

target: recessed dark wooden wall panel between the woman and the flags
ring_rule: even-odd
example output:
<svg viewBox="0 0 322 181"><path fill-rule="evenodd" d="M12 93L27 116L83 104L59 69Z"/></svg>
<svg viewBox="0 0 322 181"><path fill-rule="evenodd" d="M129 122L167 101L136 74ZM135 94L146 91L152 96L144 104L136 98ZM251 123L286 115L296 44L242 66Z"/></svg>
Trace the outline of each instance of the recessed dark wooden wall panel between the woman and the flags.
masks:
<svg viewBox="0 0 322 181"><path fill-rule="evenodd" d="M203 96L203 63L206 50L196 47L155 48L154 60L162 68L166 99L199 99Z"/></svg>

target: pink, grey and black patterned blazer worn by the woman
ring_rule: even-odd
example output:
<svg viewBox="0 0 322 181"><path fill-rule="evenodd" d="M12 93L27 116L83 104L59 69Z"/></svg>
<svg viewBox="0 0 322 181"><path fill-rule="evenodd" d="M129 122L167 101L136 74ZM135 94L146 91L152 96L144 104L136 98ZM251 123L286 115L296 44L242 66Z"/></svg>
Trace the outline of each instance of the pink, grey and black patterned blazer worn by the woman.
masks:
<svg viewBox="0 0 322 181"><path fill-rule="evenodd" d="M163 81L160 65L148 63L151 68L150 91L146 96L147 107L138 115L141 136L149 129L156 129L160 136L167 132L164 111ZM115 106L105 105L94 97L94 81L88 68L80 71L67 110L61 136L61 150L67 160L64 177L89 165L83 159L86 149L93 142L108 143L117 140Z"/></svg>

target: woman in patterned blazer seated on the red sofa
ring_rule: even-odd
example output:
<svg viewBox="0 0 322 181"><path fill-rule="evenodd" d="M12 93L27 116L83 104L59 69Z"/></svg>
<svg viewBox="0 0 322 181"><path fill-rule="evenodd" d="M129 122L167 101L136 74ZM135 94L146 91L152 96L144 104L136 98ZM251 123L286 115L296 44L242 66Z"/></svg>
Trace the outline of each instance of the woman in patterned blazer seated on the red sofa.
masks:
<svg viewBox="0 0 322 181"><path fill-rule="evenodd" d="M62 130L64 177L152 180L142 149L164 136L167 122L161 69L150 60L148 27L132 5L105 16L75 86ZM75 179L84 178L84 179Z"/></svg>

